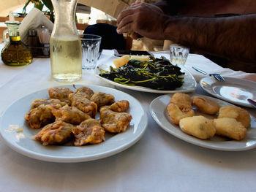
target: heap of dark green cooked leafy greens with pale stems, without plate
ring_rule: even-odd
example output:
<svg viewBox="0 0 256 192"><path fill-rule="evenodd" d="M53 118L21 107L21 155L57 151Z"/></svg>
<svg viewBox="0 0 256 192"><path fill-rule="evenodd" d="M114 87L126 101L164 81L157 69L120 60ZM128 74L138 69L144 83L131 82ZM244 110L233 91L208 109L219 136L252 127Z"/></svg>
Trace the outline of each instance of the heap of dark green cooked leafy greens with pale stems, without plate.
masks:
<svg viewBox="0 0 256 192"><path fill-rule="evenodd" d="M175 90L181 87L184 73L181 68L170 64L165 57L151 61L131 59L118 69L110 66L110 72L100 69L99 76L123 85L143 86L157 90Z"/></svg>

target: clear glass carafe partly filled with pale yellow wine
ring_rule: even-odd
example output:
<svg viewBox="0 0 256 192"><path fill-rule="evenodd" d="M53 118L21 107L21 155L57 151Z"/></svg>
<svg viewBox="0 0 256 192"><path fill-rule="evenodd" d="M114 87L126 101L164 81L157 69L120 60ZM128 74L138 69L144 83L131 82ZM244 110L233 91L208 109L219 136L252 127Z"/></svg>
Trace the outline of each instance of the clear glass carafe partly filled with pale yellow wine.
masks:
<svg viewBox="0 0 256 192"><path fill-rule="evenodd" d="M82 76L82 48L75 25L78 0L51 0L55 12L50 37L50 66L54 80L74 82Z"/></svg>

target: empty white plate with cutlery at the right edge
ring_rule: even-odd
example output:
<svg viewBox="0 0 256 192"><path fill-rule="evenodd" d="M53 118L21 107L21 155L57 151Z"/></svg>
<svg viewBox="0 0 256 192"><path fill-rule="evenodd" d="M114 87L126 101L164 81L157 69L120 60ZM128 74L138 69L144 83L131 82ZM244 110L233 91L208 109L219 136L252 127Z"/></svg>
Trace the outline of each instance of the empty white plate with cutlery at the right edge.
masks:
<svg viewBox="0 0 256 192"><path fill-rule="evenodd" d="M219 82L214 77L200 80L200 86L212 96L244 107L252 107L247 99L256 100L256 82L225 77L225 82Z"/></svg>

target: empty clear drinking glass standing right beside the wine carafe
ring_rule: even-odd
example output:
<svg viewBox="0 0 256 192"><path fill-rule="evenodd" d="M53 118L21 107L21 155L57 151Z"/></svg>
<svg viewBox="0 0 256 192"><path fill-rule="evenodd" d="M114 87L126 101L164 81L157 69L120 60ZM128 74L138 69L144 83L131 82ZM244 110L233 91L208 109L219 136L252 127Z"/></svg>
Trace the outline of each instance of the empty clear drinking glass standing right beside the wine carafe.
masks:
<svg viewBox="0 0 256 192"><path fill-rule="evenodd" d="M82 69L95 69L99 57L99 45L102 37L84 34L82 42Z"/></svg>

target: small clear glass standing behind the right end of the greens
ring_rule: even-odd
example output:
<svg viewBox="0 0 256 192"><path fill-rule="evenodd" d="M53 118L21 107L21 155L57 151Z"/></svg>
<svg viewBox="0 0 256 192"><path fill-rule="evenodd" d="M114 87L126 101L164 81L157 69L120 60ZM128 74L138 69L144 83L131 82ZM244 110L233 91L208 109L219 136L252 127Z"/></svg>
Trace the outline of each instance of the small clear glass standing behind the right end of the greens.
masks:
<svg viewBox="0 0 256 192"><path fill-rule="evenodd" d="M170 63L184 65L189 55L189 48L179 44L170 45Z"/></svg>

